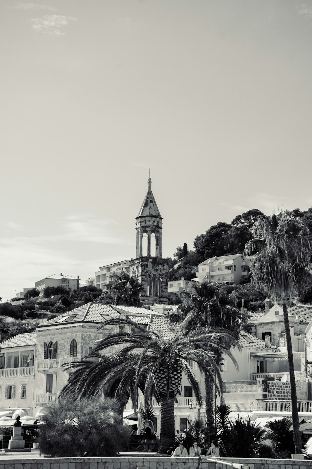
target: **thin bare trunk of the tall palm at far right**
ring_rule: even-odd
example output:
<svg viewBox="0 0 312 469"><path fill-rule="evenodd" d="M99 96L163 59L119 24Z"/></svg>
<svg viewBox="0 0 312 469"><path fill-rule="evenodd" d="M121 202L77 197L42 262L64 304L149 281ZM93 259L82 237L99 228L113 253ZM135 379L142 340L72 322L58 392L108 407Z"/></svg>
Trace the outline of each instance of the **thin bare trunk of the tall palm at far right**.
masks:
<svg viewBox="0 0 312 469"><path fill-rule="evenodd" d="M295 443L295 448L296 448L296 454L301 454L302 451L301 451L301 438L300 438L300 432L299 432L299 417L298 417L298 408L297 408L297 390L296 390L296 380L295 380L295 372L294 372L294 358L292 355L289 318L288 318L288 311L287 311L285 298L282 299L282 305L283 305L284 325L285 325L285 333L286 333L288 363L289 363L290 399L291 399L292 425L294 429L294 443Z"/></svg>

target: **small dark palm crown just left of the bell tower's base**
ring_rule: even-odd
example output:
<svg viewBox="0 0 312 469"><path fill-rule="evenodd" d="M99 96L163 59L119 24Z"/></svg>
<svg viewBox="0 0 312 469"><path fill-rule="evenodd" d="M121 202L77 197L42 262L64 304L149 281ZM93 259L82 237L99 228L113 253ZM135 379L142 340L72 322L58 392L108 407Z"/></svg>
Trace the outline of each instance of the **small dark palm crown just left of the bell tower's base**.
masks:
<svg viewBox="0 0 312 469"><path fill-rule="evenodd" d="M114 298L113 304L126 304L136 306L141 291L141 284L135 277L130 277L129 273L123 272L117 275L110 293Z"/></svg>

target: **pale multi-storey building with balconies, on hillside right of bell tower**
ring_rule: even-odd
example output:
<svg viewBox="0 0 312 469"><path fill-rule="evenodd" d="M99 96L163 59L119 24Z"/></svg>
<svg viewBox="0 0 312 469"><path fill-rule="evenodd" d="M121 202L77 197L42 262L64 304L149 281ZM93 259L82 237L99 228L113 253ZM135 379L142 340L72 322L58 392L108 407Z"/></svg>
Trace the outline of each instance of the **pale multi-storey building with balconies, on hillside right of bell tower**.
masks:
<svg viewBox="0 0 312 469"><path fill-rule="evenodd" d="M231 256L210 257L198 265L196 278L198 282L209 280L210 282L230 283L239 285L246 283L250 272L251 258L242 254Z"/></svg>

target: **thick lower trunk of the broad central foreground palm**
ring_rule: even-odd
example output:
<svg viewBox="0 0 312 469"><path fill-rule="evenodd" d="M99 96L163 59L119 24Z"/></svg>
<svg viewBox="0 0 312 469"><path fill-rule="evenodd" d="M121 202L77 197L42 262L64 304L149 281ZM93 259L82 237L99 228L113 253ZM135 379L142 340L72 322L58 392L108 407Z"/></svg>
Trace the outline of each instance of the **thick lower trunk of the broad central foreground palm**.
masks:
<svg viewBox="0 0 312 469"><path fill-rule="evenodd" d="M160 397L160 445L159 453L167 453L174 441L174 396L169 401L167 396Z"/></svg>

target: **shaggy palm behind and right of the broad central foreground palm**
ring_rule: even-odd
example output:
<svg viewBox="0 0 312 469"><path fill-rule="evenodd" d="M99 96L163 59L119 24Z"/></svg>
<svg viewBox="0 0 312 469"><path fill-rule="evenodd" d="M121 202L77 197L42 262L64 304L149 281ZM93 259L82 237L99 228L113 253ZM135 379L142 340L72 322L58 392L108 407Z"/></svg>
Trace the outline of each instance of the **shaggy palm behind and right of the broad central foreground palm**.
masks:
<svg viewBox="0 0 312 469"><path fill-rule="evenodd" d="M193 327L201 327L205 329L207 326L219 327L237 334L240 329L240 322L244 318L239 310L231 306L231 298L222 292L217 283L209 281L192 282L193 290L183 291L183 303L179 311L170 314L172 323L185 321L187 331ZM187 320L185 320L187 318ZM230 342L224 343L225 337L221 334L220 343L224 343L227 349L239 348L238 338L236 335L226 336L230 338ZM208 349L214 354L215 360L219 365L222 360L222 353L219 348L214 348L212 344L208 345ZM236 361L233 360L236 366ZM214 383L213 375L205 373L205 405L206 419L210 430L213 426L216 416L214 416ZM221 388L222 389L222 388Z"/></svg>

